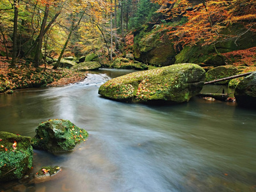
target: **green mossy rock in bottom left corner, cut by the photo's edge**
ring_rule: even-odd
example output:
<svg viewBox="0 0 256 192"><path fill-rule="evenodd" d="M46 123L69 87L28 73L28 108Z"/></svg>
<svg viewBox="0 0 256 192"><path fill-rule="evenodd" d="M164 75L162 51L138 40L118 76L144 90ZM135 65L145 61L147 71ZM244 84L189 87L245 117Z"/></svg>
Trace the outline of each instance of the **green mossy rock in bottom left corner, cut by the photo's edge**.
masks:
<svg viewBox="0 0 256 192"><path fill-rule="evenodd" d="M0 182L21 179L32 167L31 138L0 131Z"/></svg>

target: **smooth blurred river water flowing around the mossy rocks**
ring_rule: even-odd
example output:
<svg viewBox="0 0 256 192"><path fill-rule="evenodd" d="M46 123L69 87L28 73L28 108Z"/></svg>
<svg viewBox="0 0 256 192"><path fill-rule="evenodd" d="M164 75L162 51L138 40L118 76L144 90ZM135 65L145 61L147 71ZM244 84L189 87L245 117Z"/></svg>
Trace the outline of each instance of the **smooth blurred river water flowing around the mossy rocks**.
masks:
<svg viewBox="0 0 256 192"><path fill-rule="evenodd" d="M63 87L0 95L0 131L35 136L40 122L70 120L89 133L65 154L34 150L33 172L62 171L25 191L256 191L256 111L193 98L177 105L127 104L100 97L100 84L128 70L99 70ZM207 86L209 90L220 86ZM17 183L0 190L15 191ZM16 190L17 190L16 188Z"/></svg>

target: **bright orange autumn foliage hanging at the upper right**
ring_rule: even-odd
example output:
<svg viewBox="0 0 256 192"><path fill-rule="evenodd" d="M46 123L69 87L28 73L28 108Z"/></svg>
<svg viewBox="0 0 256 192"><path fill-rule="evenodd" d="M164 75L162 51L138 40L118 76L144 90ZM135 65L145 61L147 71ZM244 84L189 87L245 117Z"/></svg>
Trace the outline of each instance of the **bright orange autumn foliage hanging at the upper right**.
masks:
<svg viewBox="0 0 256 192"><path fill-rule="evenodd" d="M167 20L186 18L187 21L182 25L164 28L168 29L171 38L175 38L176 44L195 45L197 42L204 42L203 45L216 44L239 38L247 31L255 30L256 1L254 0L152 1L162 5L159 12L163 13ZM221 33L224 28L237 22L245 27L245 31L241 34Z"/></svg>

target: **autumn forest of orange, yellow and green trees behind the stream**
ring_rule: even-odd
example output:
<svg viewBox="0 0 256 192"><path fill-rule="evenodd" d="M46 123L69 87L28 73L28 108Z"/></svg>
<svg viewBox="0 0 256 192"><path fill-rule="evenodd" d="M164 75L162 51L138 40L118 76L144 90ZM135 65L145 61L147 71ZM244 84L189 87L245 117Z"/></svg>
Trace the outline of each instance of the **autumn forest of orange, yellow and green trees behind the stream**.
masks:
<svg viewBox="0 0 256 192"><path fill-rule="evenodd" d="M112 68L129 55L134 66L255 65L254 1L3 0L0 13L5 68L67 68L61 59L92 53ZM10 89L3 88L9 79L3 76L1 92Z"/></svg>

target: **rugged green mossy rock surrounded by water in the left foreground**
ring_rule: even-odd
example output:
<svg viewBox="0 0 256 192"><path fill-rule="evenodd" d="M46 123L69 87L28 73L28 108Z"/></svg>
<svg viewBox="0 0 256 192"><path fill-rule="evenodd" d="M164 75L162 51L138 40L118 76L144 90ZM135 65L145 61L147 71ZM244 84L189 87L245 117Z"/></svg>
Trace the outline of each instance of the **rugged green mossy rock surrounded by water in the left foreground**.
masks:
<svg viewBox="0 0 256 192"><path fill-rule="evenodd" d="M54 119L42 122L36 128L36 136L32 146L51 153L71 151L88 137L84 129L80 129L69 120Z"/></svg>

